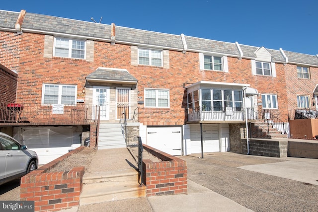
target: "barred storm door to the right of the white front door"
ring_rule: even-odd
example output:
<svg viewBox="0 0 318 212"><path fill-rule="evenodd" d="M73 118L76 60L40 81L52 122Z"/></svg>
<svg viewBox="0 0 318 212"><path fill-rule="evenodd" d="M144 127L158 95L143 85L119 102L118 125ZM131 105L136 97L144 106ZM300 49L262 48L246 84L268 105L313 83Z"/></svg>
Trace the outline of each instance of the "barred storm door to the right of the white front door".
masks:
<svg viewBox="0 0 318 212"><path fill-rule="evenodd" d="M117 88L117 119L130 119L130 89Z"/></svg>

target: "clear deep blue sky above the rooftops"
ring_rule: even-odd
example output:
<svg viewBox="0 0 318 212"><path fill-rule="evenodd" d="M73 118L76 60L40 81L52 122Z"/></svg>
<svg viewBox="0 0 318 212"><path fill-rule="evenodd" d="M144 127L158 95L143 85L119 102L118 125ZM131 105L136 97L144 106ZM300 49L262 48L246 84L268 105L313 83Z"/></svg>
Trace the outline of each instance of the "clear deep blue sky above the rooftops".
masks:
<svg viewBox="0 0 318 212"><path fill-rule="evenodd" d="M318 54L318 0L7 0L0 9Z"/></svg>

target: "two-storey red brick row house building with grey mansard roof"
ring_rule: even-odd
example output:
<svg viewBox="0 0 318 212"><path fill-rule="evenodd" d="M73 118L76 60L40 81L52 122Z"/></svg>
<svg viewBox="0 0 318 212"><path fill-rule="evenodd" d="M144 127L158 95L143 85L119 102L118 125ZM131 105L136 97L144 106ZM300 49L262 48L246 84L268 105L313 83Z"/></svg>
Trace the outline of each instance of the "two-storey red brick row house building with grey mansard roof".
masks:
<svg viewBox="0 0 318 212"><path fill-rule="evenodd" d="M17 74L0 129L40 163L85 138L110 148L140 136L172 155L239 151L246 126L251 138L286 138L290 111L318 103L318 56L25 10L0 16L0 64ZM280 133L262 132L264 119Z"/></svg>

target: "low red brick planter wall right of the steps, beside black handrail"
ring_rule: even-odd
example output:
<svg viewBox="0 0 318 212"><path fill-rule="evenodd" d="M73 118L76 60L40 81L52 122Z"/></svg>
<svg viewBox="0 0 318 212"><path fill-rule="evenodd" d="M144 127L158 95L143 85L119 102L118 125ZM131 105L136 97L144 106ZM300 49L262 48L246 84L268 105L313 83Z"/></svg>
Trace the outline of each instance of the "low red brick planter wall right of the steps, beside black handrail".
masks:
<svg viewBox="0 0 318 212"><path fill-rule="evenodd" d="M147 186L146 196L187 193L186 161L143 144L144 149L162 161L143 160L143 176Z"/></svg>

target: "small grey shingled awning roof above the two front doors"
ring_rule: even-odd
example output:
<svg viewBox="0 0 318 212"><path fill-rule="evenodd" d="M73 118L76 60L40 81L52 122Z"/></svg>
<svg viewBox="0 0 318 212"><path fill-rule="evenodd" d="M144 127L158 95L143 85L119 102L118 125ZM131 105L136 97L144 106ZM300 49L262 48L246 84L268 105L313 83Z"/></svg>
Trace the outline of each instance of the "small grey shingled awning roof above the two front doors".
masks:
<svg viewBox="0 0 318 212"><path fill-rule="evenodd" d="M105 69L98 68L96 71L88 74L86 79L90 80L106 80L106 81L127 81L136 82L137 79L125 69Z"/></svg>

